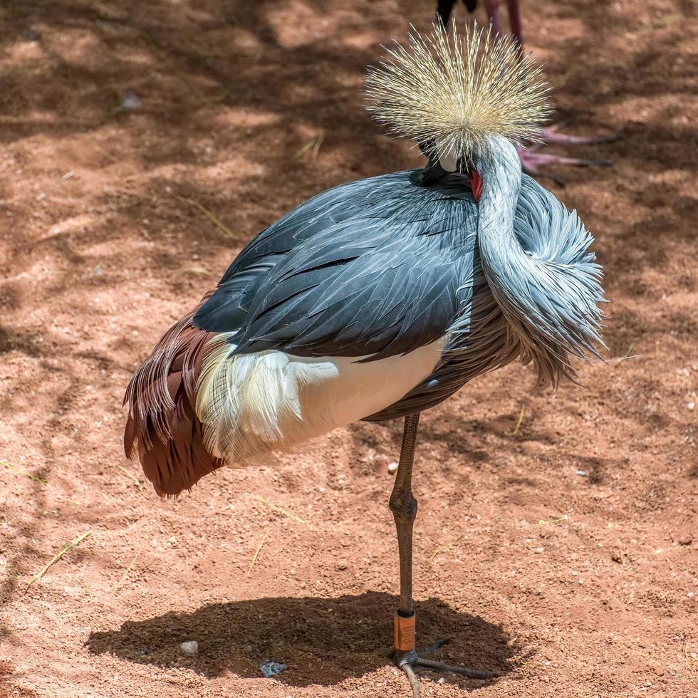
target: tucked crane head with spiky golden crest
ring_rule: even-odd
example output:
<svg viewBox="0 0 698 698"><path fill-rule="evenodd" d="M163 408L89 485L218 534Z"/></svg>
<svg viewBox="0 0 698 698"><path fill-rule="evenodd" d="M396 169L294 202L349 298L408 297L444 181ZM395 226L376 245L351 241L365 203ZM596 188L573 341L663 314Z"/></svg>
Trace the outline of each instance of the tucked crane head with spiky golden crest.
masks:
<svg viewBox="0 0 698 698"><path fill-rule="evenodd" d="M479 161L493 137L536 142L551 114L548 85L530 56L510 37L482 28L459 35L434 24L408 34L368 69L367 108L391 135L419 145L428 159L422 184L458 172L470 177L479 199Z"/></svg>

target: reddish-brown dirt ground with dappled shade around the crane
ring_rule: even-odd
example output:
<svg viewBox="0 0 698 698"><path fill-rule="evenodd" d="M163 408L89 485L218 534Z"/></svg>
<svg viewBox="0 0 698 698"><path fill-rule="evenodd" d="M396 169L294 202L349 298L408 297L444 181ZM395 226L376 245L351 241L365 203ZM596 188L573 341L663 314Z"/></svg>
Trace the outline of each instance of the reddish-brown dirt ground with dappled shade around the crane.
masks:
<svg viewBox="0 0 698 698"><path fill-rule="evenodd" d="M360 87L434 4L0 7L0 696L407 696L387 659L400 424L161 501L123 457L121 400L257 231L420 164ZM425 698L698 695L696 12L523 2L558 123L625 135L557 147L615 165L546 182L597 236L608 363L556 396L514 365L424 415L420 642L503 673L425 674Z"/></svg>

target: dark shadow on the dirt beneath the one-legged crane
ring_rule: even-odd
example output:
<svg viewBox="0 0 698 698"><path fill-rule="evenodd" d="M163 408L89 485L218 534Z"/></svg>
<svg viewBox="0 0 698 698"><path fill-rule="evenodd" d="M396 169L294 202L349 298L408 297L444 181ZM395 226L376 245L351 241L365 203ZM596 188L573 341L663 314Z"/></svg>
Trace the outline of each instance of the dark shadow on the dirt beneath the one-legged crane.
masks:
<svg viewBox="0 0 698 698"><path fill-rule="evenodd" d="M438 598L420 600L417 607L420 645L452 638L434 659L499 674L519 665L521 647L503 627L454 610ZM118 630L92 632L87 645L95 655L108 652L158 667L177 662L211 679L226 672L259 677L259 663L273 660L288 665L276 677L281 682L330 685L390 662L394 609L394 596L376 592L212 603L193 613L165 613L129 620ZM179 645L188 640L197 640L199 654L184 659ZM455 675L445 679L471 689L488 683Z"/></svg>

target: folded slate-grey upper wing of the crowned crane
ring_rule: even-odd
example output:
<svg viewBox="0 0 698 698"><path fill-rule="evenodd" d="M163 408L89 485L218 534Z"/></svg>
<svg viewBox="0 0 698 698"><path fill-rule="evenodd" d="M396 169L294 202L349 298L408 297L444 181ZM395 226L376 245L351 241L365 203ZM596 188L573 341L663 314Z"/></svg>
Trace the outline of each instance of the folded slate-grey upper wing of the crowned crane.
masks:
<svg viewBox="0 0 698 698"><path fill-rule="evenodd" d="M310 199L244 249L194 323L233 332L237 353L407 353L446 333L472 274L476 206L415 172ZM467 285L467 284L466 284Z"/></svg>

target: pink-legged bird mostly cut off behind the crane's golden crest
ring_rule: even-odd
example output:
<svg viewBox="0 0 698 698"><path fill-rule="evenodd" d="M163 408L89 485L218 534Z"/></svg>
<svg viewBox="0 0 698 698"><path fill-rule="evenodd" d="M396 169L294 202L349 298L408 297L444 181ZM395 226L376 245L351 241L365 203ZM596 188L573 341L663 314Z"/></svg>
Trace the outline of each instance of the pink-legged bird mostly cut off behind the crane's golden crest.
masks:
<svg viewBox="0 0 698 698"><path fill-rule="evenodd" d="M468 12L474 12L477 9L478 0L463 0ZM504 24L501 20L499 5L501 0L482 0L484 9L489 19L491 31L496 35L504 33ZM443 26L448 26L454 6L457 0L437 0L436 19ZM519 46L519 53L523 55L523 35L521 29L521 9L519 8L519 0L506 0L506 10L509 15L509 26L511 27L511 36ZM612 143L621 140L620 134L607 136L573 136L566 133L558 132L556 126L548 127L542 130L538 135L537 142L532 143L529 147L518 146L519 157L523 165L523 172L532 177L541 177L541 167L544 165L575 165L578 167L610 167L613 165L608 158L603 160L585 160L580 157L563 157L553 153L539 152L542 145L548 143L563 143L567 145L598 145L601 143ZM558 186L563 187L565 180L557 175L546 175L553 179Z"/></svg>

